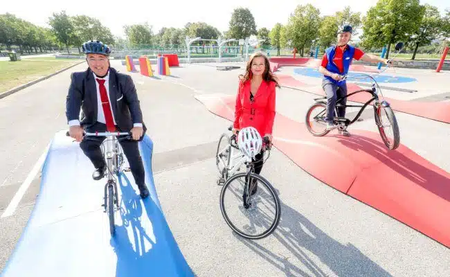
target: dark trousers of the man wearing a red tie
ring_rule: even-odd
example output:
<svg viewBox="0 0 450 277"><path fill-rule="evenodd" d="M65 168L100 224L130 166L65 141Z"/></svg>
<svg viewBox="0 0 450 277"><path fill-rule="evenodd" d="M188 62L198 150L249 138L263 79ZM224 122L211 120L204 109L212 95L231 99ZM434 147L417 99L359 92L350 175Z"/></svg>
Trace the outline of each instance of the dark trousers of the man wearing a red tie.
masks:
<svg viewBox="0 0 450 277"><path fill-rule="evenodd" d="M106 132L106 125L96 123L92 127L87 128L86 132ZM119 129L120 132L123 132ZM84 136L80 143L80 148L84 154L91 160L95 168L103 168L106 165L105 157L103 157L100 145L105 141L105 136ZM141 153L139 153L138 141L123 140L120 141L123 153L128 159L129 169L132 171L134 181L138 187L145 185L145 170Z"/></svg>

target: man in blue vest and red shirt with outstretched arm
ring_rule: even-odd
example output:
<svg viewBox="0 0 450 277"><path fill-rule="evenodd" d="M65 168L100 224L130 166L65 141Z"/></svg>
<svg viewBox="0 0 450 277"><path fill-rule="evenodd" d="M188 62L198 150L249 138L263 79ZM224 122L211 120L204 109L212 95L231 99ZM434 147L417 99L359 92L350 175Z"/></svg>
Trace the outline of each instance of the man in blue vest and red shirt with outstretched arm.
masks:
<svg viewBox="0 0 450 277"><path fill-rule="evenodd" d="M352 33L353 29L350 25L345 25L338 30L337 45L325 49L321 66L318 68L318 71L323 74L322 87L327 96L327 116L325 120L327 121L328 130L336 127L333 125L333 117L337 98L347 95L347 84L342 78L343 75L348 73L352 60L382 62L384 64L390 63L390 60L366 54L361 49L350 46L348 42L352 38ZM344 98L342 104L345 105L346 102L347 98ZM338 113L337 116L344 117L345 107L339 107ZM342 134L344 136L350 136L350 133L346 129L343 130Z"/></svg>

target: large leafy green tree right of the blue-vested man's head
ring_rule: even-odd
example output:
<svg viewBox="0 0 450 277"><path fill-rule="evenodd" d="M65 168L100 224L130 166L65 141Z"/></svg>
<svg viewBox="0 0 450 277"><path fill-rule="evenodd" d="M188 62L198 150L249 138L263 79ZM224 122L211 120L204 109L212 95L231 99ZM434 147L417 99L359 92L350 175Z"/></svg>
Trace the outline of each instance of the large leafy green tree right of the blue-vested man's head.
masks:
<svg viewBox="0 0 450 277"><path fill-rule="evenodd" d="M403 41L415 33L424 12L419 0L379 0L363 19L362 45L366 48L382 47Z"/></svg>

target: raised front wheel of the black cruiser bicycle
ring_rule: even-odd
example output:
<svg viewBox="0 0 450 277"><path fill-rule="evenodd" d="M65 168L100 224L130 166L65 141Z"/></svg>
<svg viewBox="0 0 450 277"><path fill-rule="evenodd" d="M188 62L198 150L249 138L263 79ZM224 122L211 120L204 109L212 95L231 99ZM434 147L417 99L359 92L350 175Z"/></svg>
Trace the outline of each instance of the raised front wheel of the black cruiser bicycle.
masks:
<svg viewBox="0 0 450 277"><path fill-rule="evenodd" d="M395 150L400 144L400 131L394 111L390 107L379 105L375 110L378 118L377 127L384 144L390 150Z"/></svg>

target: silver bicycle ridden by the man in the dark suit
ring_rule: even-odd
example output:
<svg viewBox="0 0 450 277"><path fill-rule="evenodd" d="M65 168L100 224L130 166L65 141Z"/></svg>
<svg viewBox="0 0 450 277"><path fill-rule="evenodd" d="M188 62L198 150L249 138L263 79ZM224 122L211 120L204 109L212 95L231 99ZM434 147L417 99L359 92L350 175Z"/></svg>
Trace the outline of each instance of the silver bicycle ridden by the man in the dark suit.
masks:
<svg viewBox="0 0 450 277"><path fill-rule="evenodd" d="M69 136L69 132L66 132L66 136ZM116 211L119 211L119 199L117 193L117 184L116 184L116 175L119 177L121 172L129 171L129 168L122 169L123 163L125 163L123 159L123 151L120 147L119 142L125 139L131 139L131 132L95 132L89 133L84 132L84 136L105 136L107 139L102 141L100 145L103 156L106 161L106 177L107 183L105 184L105 196L104 196L104 204L102 206L105 207L105 213L108 214L109 217L109 233L114 235L115 228L115 220L114 215ZM118 138L118 136L123 136ZM108 139L108 137L110 139ZM105 146L106 145L106 146ZM106 148L106 149L105 149Z"/></svg>

